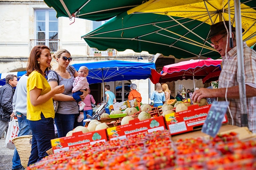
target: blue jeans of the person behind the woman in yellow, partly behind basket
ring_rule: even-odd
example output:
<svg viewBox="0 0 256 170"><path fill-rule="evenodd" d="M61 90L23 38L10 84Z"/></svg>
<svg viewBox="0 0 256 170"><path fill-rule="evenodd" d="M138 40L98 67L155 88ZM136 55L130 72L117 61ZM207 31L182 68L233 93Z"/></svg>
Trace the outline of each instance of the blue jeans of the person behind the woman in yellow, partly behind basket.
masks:
<svg viewBox="0 0 256 170"><path fill-rule="evenodd" d="M16 111L17 112L17 111ZM17 112L17 120L18 120L18 125L20 128L20 132L18 136L23 136L23 135L32 135L32 131L29 128L29 123L28 120L26 119L26 116L24 116L22 113ZM15 147L14 149L14 154L12 157L12 169L17 169L22 167L20 163L20 156L17 152L17 149Z"/></svg>

